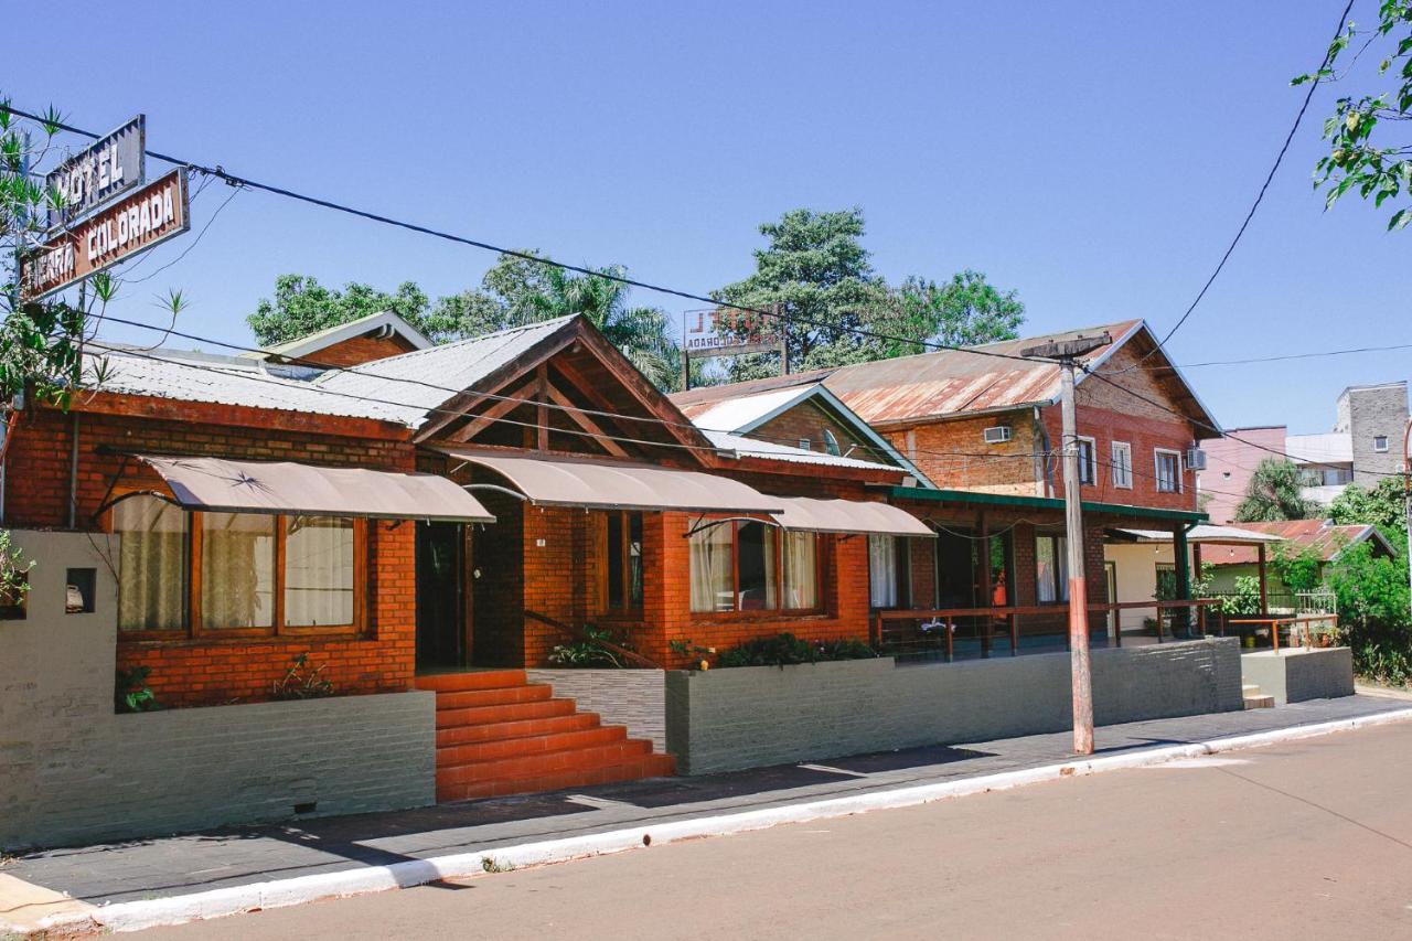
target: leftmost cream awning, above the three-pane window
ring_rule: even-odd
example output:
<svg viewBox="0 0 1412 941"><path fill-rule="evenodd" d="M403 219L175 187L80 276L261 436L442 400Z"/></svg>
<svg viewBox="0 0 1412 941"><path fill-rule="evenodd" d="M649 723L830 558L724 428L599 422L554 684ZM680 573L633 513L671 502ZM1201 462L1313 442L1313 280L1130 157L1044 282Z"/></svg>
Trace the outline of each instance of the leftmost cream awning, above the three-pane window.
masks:
<svg viewBox="0 0 1412 941"><path fill-rule="evenodd" d="M184 510L496 521L476 497L433 473L319 468L285 461L134 456L161 475Z"/></svg>

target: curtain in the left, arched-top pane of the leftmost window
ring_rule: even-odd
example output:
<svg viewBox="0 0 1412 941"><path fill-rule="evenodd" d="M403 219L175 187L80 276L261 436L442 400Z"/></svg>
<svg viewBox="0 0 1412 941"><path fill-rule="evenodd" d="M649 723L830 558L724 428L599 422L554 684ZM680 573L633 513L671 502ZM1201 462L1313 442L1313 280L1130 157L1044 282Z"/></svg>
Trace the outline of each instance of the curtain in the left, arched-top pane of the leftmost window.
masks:
<svg viewBox="0 0 1412 941"><path fill-rule="evenodd" d="M113 507L117 629L181 630L186 625L186 514L165 500L134 496Z"/></svg>

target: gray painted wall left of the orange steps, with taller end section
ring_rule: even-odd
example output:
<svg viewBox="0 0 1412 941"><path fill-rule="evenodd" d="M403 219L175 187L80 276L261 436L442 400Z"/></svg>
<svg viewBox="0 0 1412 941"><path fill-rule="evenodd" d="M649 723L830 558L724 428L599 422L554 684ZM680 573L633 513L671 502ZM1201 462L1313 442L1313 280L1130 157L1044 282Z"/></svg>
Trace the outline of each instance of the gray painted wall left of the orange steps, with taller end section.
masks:
<svg viewBox="0 0 1412 941"><path fill-rule="evenodd" d="M116 584L83 534L14 534L37 565L28 616L0 622L0 848L435 801L435 694L116 715ZM64 613L68 567L96 610Z"/></svg>

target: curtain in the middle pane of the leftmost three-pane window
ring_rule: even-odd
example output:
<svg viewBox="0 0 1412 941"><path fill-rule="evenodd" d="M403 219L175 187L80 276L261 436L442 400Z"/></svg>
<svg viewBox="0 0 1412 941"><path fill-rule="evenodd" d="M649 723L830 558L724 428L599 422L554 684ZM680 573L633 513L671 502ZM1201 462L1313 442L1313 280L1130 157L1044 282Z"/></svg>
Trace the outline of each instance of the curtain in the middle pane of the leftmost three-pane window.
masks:
<svg viewBox="0 0 1412 941"><path fill-rule="evenodd" d="M275 517L201 514L201 625L270 627L274 623Z"/></svg>

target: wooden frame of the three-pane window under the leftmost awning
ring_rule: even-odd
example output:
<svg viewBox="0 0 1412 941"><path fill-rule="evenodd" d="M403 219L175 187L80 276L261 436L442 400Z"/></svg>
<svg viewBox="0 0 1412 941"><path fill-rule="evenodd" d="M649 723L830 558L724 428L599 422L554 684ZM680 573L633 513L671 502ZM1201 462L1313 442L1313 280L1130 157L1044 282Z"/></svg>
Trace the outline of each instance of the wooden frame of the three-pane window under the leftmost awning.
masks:
<svg viewBox="0 0 1412 941"><path fill-rule="evenodd" d="M160 499L160 497L157 497ZM288 540L288 521L292 516L325 516L325 514L274 514L250 513L244 516L261 516L274 519L275 551L274 551L274 612L267 627L203 627L201 623L201 568L202 568L202 517L198 510L181 510L186 523L186 565L184 571L184 609L186 623L178 630L119 630L119 641L244 641L244 640L280 640L287 637L363 637L367 634L369 617L369 520L364 517L339 517L328 514L330 519L346 519L353 521L353 622L347 625L285 625L284 623L284 591L285 591L285 541ZM113 509L104 514L103 528L113 531ZM123 574L117 572L119 591L121 591Z"/></svg>

